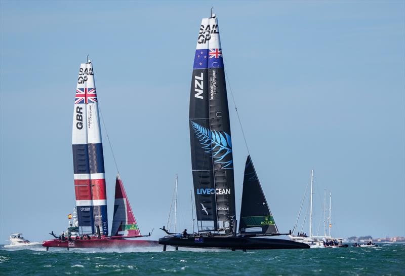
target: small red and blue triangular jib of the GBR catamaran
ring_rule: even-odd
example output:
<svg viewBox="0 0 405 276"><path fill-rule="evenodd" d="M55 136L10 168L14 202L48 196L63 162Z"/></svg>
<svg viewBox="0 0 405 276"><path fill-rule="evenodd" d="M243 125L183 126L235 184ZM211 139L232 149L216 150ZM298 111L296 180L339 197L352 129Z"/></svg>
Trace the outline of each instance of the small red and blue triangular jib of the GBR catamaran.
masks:
<svg viewBox="0 0 405 276"><path fill-rule="evenodd" d="M114 216L111 235L127 237L141 235L119 174L117 174L115 181Z"/></svg>

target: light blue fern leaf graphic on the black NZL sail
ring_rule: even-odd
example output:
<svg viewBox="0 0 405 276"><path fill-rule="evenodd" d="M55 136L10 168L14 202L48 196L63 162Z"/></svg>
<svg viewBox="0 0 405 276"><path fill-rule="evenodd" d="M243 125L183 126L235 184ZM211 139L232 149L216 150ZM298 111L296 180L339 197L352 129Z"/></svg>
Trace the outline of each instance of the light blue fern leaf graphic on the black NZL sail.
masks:
<svg viewBox="0 0 405 276"><path fill-rule="evenodd" d="M214 162L221 165L222 169L233 169L232 142L231 137L226 132L209 130L193 121L190 121L195 137L199 140L202 148L207 153L211 153ZM228 156L228 158L227 158ZM230 160L227 160L229 159Z"/></svg>

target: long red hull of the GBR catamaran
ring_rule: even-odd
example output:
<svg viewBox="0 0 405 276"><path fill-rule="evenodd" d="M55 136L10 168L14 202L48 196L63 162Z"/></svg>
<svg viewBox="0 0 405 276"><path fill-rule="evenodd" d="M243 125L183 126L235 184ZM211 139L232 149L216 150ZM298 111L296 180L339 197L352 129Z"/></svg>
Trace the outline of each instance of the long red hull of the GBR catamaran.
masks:
<svg viewBox="0 0 405 276"><path fill-rule="evenodd" d="M151 247L158 246L157 241L125 240L101 238L91 240L61 241L58 239L48 240L42 243L44 247L59 248L130 248L130 247Z"/></svg>

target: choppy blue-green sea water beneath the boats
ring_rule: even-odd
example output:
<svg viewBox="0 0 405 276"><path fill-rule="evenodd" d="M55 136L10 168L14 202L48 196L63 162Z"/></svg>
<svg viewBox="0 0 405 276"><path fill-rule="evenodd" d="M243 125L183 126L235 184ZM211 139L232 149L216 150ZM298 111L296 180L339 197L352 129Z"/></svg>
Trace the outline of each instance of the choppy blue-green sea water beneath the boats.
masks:
<svg viewBox="0 0 405 276"><path fill-rule="evenodd" d="M300 250L5 250L0 275L405 275L405 245Z"/></svg>

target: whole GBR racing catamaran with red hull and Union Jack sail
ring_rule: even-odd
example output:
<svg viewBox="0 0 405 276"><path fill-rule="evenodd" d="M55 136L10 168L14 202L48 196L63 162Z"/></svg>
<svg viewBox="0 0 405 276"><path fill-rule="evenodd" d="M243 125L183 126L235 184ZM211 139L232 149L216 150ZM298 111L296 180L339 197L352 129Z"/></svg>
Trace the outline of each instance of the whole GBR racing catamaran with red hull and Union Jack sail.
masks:
<svg viewBox="0 0 405 276"><path fill-rule="evenodd" d="M157 246L157 241L127 240L144 235L139 230L119 174L115 181L112 235L108 235L103 144L93 65L90 60L80 64L73 109L72 148L79 235L63 235L43 242L43 246L47 250L49 247L69 249Z"/></svg>

